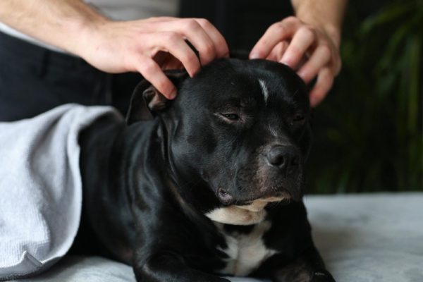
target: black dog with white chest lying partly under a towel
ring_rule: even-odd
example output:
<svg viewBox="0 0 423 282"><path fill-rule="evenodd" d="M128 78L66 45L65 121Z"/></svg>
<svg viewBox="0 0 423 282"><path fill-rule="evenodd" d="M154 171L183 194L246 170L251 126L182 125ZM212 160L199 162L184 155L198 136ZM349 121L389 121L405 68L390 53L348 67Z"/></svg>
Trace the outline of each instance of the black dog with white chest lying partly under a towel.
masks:
<svg viewBox="0 0 423 282"><path fill-rule="evenodd" d="M82 134L75 244L97 243L142 282L334 281L301 200L310 145L302 80L280 63L236 59L169 77L175 100L142 82L130 126L102 118Z"/></svg>

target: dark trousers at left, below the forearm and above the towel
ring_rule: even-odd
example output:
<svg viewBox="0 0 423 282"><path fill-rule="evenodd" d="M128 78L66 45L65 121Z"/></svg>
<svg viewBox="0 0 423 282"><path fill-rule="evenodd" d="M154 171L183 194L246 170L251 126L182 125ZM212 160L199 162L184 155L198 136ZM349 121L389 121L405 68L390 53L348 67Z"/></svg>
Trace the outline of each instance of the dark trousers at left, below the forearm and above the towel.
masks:
<svg viewBox="0 0 423 282"><path fill-rule="evenodd" d="M84 60L0 32L0 121L67 103L111 105L125 114L138 73L112 75Z"/></svg>

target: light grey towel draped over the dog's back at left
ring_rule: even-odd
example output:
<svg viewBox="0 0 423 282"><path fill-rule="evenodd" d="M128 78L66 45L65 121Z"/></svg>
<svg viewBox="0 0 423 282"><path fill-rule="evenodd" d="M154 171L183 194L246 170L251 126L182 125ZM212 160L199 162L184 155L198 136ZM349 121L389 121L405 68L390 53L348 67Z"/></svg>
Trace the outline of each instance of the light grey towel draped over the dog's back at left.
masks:
<svg viewBox="0 0 423 282"><path fill-rule="evenodd" d="M109 107L68 104L0 123L0 280L47 269L68 252L80 222L78 134Z"/></svg>

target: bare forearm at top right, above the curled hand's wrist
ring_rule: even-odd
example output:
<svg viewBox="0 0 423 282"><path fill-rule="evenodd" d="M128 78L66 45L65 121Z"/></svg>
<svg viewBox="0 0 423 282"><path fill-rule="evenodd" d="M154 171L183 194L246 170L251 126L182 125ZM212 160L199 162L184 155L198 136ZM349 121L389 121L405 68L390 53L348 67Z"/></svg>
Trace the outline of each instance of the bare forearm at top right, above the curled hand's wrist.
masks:
<svg viewBox="0 0 423 282"><path fill-rule="evenodd" d="M347 1L291 0L297 18L324 28L338 47L341 42L341 25Z"/></svg>

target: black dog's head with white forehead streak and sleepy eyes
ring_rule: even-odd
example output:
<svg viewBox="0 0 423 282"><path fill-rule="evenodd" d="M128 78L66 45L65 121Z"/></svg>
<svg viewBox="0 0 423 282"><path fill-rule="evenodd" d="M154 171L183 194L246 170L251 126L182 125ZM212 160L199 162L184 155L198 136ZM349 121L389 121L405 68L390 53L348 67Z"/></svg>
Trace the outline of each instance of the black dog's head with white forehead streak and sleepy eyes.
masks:
<svg viewBox="0 0 423 282"><path fill-rule="evenodd" d="M298 75L281 63L221 59L194 78L169 76L178 97L167 101L143 82L128 121L160 116L172 165L191 189L206 186L226 206L300 200L310 129Z"/></svg>

